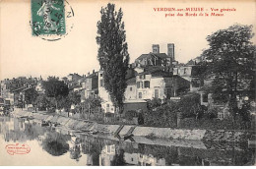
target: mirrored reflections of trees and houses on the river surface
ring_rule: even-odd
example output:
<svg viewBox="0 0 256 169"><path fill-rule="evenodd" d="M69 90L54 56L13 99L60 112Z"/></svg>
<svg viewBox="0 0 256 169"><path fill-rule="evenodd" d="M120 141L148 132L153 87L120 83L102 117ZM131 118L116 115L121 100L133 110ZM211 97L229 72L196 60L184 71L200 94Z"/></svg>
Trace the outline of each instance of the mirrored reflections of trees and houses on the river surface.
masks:
<svg viewBox="0 0 256 169"><path fill-rule="evenodd" d="M65 128L41 127L32 120L0 118L0 141L37 141L52 157L71 160L69 165L254 165L255 149L245 143L203 142L204 148L166 146L106 140L72 133ZM36 148L36 147L31 147ZM35 157L34 157L35 158ZM57 160L56 164L59 163Z"/></svg>

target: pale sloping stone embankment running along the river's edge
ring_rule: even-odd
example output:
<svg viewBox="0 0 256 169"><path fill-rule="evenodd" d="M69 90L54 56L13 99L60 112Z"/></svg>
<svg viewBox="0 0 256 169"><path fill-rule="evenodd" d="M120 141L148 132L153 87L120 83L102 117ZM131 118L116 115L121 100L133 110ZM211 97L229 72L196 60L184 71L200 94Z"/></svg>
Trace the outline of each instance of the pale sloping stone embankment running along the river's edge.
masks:
<svg viewBox="0 0 256 169"><path fill-rule="evenodd" d="M60 125L70 130L106 134L109 136L134 136L139 138L147 138L151 140L167 139L167 140L182 140L182 141L231 141L245 142L248 141L253 131L228 131L228 130L187 130L187 129L170 129L170 128L155 128L155 127L140 127L128 125L104 125L96 122L77 120L70 117L60 115L49 115L45 112L32 113L24 110L15 110L11 113L12 116L18 118L31 118L38 123L49 123Z"/></svg>

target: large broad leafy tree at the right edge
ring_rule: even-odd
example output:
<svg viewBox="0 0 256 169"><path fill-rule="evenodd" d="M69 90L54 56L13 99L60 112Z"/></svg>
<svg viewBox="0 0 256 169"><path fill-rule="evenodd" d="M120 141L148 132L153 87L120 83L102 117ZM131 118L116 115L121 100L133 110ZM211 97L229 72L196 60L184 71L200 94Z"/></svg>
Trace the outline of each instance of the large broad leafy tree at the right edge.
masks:
<svg viewBox="0 0 256 169"><path fill-rule="evenodd" d="M255 96L255 46L252 26L234 25L220 29L207 37L210 48L202 54L208 66L207 77L214 77L206 91L213 93L216 102L228 103L233 121L237 96Z"/></svg>

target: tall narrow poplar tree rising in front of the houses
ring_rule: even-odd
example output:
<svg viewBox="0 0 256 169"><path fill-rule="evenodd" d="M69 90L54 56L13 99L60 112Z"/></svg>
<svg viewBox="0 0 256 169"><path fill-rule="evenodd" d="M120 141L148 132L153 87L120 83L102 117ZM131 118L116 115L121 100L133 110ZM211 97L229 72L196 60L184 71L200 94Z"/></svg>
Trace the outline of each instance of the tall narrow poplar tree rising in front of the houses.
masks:
<svg viewBox="0 0 256 169"><path fill-rule="evenodd" d="M108 3L106 8L101 8L100 14L96 36L96 43L99 45L97 59L103 70L104 87L121 112L130 59L122 22L123 12L121 8L116 12L115 5Z"/></svg>

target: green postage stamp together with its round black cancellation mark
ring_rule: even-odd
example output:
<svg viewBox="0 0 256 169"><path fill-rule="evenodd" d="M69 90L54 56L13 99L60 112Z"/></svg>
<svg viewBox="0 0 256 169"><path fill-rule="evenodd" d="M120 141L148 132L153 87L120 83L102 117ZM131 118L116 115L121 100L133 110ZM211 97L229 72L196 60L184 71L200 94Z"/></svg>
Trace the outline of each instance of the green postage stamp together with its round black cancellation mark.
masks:
<svg viewBox="0 0 256 169"><path fill-rule="evenodd" d="M66 0L32 0L32 35L55 41L74 27L74 11Z"/></svg>

